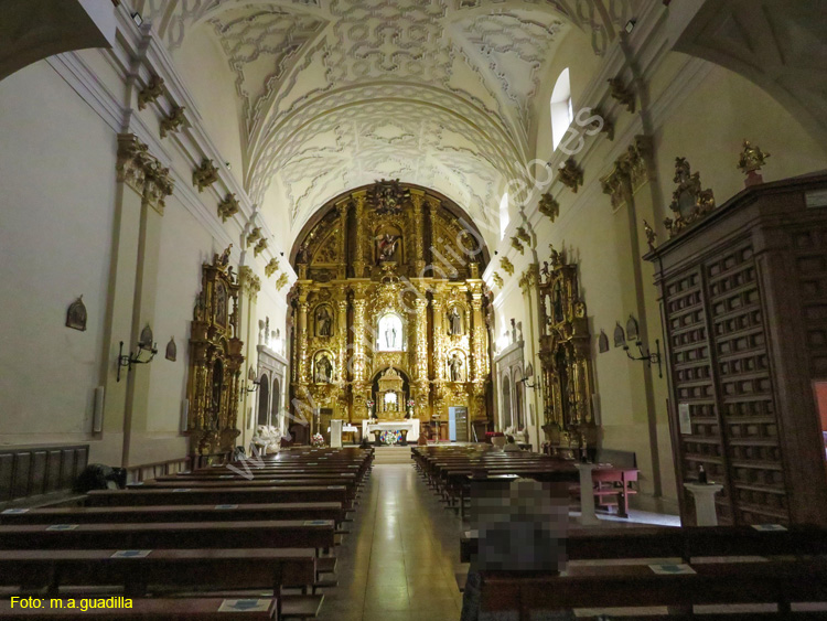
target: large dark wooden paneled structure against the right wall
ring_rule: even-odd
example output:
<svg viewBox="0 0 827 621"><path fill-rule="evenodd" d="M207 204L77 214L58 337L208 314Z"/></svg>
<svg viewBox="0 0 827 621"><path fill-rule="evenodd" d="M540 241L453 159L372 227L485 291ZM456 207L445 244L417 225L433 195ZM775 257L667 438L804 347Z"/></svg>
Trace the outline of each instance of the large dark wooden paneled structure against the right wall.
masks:
<svg viewBox="0 0 827 621"><path fill-rule="evenodd" d="M744 190L645 258L684 523L700 465L723 484L722 524L827 522L814 392L827 379L827 175Z"/></svg>

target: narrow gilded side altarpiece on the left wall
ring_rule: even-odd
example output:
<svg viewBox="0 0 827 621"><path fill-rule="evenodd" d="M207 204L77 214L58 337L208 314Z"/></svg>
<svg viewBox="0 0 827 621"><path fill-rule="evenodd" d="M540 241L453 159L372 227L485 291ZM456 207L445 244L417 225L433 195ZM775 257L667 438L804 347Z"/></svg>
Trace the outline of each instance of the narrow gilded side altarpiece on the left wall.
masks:
<svg viewBox="0 0 827 621"><path fill-rule="evenodd" d="M195 300L190 335L190 413L187 433L194 454L230 451L241 390L244 343L238 339L240 286L229 250L202 266L202 290Z"/></svg>

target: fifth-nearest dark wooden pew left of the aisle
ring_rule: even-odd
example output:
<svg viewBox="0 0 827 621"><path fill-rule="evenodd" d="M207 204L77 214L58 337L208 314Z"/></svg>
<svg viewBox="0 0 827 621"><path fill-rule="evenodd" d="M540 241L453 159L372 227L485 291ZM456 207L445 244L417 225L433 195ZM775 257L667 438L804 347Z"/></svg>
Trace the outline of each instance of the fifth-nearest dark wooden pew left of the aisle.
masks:
<svg viewBox="0 0 827 621"><path fill-rule="evenodd" d="M246 488L222 489L146 489L95 490L88 493L87 506L141 506L172 504L272 504L291 502L339 502L350 508L345 485L304 488Z"/></svg>

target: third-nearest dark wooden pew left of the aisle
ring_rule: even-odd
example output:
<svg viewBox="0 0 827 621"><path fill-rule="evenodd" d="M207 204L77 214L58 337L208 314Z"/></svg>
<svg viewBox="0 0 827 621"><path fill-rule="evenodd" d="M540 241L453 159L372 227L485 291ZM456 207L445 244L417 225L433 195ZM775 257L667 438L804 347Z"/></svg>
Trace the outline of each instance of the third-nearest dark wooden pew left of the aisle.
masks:
<svg viewBox="0 0 827 621"><path fill-rule="evenodd" d="M325 520L0 526L0 549L261 547L318 552L334 545L335 524Z"/></svg>

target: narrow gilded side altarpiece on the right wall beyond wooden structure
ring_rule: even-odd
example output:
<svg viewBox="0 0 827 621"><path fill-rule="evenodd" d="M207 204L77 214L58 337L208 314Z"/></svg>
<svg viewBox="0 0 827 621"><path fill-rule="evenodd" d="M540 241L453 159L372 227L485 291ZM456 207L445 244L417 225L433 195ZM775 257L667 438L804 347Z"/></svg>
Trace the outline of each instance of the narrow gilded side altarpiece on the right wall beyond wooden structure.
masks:
<svg viewBox="0 0 827 621"><path fill-rule="evenodd" d="M591 335L578 269L551 247L537 277L544 416L551 452L566 458L597 447ZM594 457L593 454L591 456Z"/></svg>

